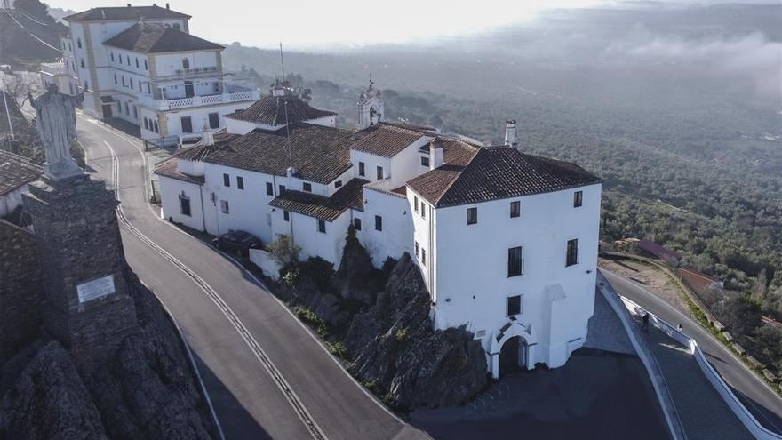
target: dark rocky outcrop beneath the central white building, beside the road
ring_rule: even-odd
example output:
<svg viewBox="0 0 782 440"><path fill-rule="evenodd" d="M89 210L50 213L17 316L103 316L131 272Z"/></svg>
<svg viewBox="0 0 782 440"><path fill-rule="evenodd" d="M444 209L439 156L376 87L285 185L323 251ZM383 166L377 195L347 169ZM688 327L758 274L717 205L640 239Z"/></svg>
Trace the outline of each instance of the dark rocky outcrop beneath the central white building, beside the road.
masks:
<svg viewBox="0 0 782 440"><path fill-rule="evenodd" d="M330 273L324 264L293 268L295 283L277 290L323 320L332 347L345 348L348 370L387 404L400 410L465 404L485 387L483 348L464 328L434 329L429 292L409 254L393 269L387 264L386 274L349 235L339 270Z"/></svg>

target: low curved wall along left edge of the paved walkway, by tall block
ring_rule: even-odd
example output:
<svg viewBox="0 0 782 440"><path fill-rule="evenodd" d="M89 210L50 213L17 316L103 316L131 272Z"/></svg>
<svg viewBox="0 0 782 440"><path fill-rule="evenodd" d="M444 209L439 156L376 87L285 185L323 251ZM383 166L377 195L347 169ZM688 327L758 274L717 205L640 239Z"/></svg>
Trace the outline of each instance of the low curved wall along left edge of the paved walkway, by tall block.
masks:
<svg viewBox="0 0 782 440"><path fill-rule="evenodd" d="M655 393L657 393L658 401L662 407L663 414L666 416L666 422L668 424L668 430L671 432L671 436L673 436L674 440L686 440L687 435L684 432L682 420L679 418L679 412L676 411L674 398L671 396L666 377L657 362L657 357L651 352L651 348L649 348L649 344L643 338L638 326L635 325L633 319L627 314L627 309L621 301L622 297L614 291L613 287L605 276L602 275L600 270L597 271L597 283L598 290L619 317L619 320L625 327L625 332L630 339L630 343L633 345L635 352L641 359L641 363L646 367L646 371L649 373L651 385L654 388Z"/></svg>

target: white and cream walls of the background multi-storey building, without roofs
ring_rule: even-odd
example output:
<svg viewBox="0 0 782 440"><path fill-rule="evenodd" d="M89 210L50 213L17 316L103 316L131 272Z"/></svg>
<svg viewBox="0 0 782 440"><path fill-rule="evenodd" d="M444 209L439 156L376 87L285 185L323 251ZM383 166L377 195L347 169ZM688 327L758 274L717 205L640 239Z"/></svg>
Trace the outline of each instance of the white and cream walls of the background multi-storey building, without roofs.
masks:
<svg viewBox="0 0 782 440"><path fill-rule="evenodd" d="M145 22L189 32L186 19ZM224 127L225 115L259 99L257 90L226 84L221 49L143 53L104 44L136 23L69 21L71 36L62 44L72 48L72 73L84 90L86 113L124 119L140 127L142 139L171 143L199 136L204 127Z"/></svg>

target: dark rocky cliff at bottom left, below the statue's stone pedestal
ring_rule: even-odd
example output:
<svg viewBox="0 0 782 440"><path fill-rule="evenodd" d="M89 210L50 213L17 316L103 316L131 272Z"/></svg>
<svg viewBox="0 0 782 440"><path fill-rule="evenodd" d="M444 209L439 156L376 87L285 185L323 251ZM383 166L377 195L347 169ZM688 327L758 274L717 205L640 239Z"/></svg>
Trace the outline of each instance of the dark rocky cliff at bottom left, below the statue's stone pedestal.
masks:
<svg viewBox="0 0 782 440"><path fill-rule="evenodd" d="M3 364L0 439L217 438L172 322L130 271L139 331L108 364L80 372L51 336Z"/></svg>

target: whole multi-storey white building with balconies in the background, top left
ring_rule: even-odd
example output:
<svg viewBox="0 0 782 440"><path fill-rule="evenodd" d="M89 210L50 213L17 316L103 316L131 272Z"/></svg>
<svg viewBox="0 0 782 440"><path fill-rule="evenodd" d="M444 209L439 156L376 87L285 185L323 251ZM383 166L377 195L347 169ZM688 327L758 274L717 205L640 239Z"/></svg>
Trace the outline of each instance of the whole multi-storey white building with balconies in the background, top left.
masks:
<svg viewBox="0 0 782 440"><path fill-rule="evenodd" d="M62 64L78 78L84 110L122 118L138 125L143 139L168 143L222 127L225 115L257 100L258 91L227 82L224 47L189 34L189 19L168 4L65 17L70 36L61 42ZM42 68L44 78L50 69Z"/></svg>

